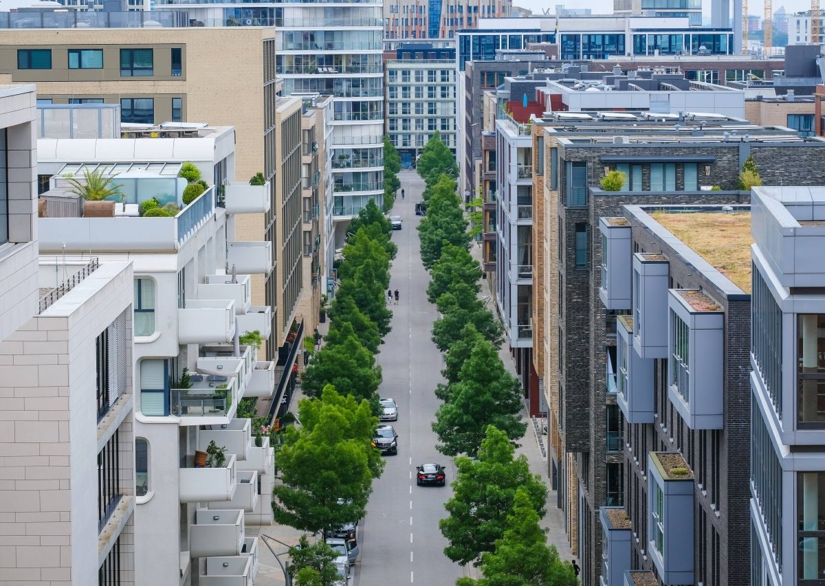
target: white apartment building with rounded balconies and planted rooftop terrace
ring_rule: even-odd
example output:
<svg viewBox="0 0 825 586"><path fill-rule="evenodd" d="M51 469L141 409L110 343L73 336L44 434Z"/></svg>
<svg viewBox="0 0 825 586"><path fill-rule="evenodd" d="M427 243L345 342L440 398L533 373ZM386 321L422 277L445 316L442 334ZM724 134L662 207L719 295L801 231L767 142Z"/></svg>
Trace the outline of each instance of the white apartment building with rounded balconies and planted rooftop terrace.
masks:
<svg viewBox="0 0 825 586"><path fill-rule="evenodd" d="M239 337L270 334L272 309L252 306L251 279L272 270L272 243L236 241L234 232L238 214L270 209L269 185L233 181L231 127L184 124L171 133L176 138L148 138L153 134L40 140L40 171L54 174L42 196L40 248L67 256L92 251L134 266L123 297L134 300L138 392L135 583L246 586L257 571L257 540L245 527L271 523L274 461L269 439L257 441L250 420L235 415L239 401L252 396L268 411L276 363L258 360L255 345ZM130 206L152 196L181 204L184 161L200 168L209 189L174 217L134 217ZM124 209L115 204L107 217L76 213L61 192L64 176L82 176L84 167L123 185ZM218 171L226 179L223 207L212 185ZM223 461L207 456L212 441L226 448Z"/></svg>

